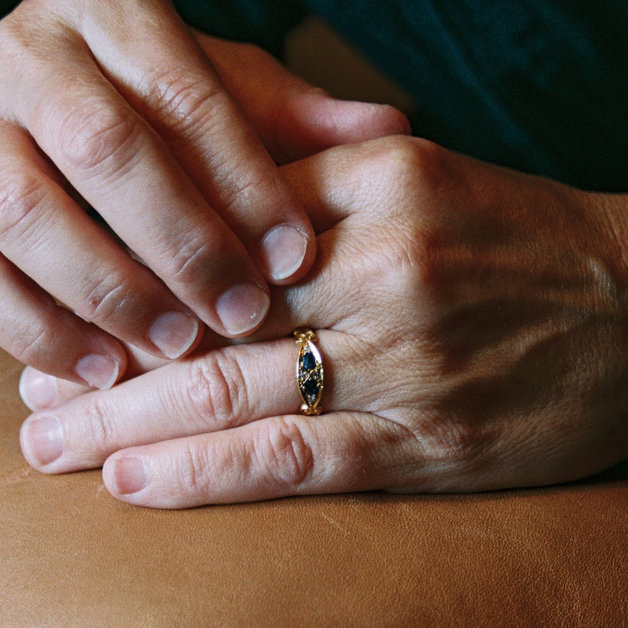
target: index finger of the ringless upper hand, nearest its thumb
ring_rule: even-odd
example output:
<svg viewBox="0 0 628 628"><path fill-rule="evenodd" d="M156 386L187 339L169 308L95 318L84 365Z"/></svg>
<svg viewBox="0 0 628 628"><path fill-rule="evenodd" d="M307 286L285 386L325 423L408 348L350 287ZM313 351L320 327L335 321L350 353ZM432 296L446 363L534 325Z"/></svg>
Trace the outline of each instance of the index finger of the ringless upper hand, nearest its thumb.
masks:
<svg viewBox="0 0 628 628"><path fill-rule="evenodd" d="M94 37L98 24L89 20L81 29L110 80L165 138L267 279L303 276L315 254L307 216L184 23L153 0L101 11L117 21L109 38ZM151 45L137 54L142 38Z"/></svg>

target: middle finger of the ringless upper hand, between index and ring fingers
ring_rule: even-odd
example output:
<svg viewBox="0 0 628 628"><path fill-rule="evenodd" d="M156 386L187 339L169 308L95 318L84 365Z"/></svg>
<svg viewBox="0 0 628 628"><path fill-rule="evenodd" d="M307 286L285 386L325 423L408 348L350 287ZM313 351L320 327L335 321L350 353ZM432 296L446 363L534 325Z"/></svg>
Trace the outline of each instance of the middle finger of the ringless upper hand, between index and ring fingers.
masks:
<svg viewBox="0 0 628 628"><path fill-rule="evenodd" d="M20 54L0 55L0 66L15 63L11 73L22 82L26 77L30 89L22 82L8 86L20 124L129 248L212 329L227 336L255 329L269 298L244 246L154 131L104 79L84 45L68 40L56 50L54 73L48 59L25 63ZM59 81L63 90L55 87ZM130 281L113 278L113 288ZM163 292L163 286L157 290ZM111 292L111 311L124 305L128 294ZM154 299L153 294L142 302L149 312Z"/></svg>

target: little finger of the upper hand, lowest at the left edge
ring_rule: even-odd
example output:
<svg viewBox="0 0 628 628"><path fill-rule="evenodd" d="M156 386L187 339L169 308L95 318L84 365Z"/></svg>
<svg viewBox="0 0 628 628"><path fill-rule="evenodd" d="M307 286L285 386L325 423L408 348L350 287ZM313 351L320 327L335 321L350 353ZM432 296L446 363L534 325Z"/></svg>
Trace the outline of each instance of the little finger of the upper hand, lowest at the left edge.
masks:
<svg viewBox="0 0 628 628"><path fill-rule="evenodd" d="M108 389L126 368L121 345L58 306L0 255L0 346L20 361Z"/></svg>

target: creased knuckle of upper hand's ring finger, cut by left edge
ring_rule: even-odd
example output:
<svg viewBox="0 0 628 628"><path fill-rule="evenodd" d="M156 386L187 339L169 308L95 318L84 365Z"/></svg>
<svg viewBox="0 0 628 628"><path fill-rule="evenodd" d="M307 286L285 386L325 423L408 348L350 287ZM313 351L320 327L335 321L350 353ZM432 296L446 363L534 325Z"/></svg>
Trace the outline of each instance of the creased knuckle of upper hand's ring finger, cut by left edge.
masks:
<svg viewBox="0 0 628 628"><path fill-rule="evenodd" d="M47 190L44 181L24 167L6 165L0 171L0 238L15 244L42 218L39 210Z"/></svg>

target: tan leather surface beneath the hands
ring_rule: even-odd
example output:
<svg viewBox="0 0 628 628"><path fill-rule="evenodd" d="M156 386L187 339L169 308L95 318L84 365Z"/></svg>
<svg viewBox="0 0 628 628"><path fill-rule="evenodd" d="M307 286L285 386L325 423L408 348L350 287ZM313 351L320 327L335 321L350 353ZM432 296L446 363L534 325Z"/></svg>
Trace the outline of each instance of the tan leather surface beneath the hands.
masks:
<svg viewBox="0 0 628 628"><path fill-rule="evenodd" d="M156 511L45 477L0 354L0 626L628 625L628 479Z"/></svg>

